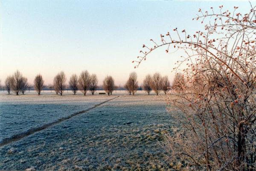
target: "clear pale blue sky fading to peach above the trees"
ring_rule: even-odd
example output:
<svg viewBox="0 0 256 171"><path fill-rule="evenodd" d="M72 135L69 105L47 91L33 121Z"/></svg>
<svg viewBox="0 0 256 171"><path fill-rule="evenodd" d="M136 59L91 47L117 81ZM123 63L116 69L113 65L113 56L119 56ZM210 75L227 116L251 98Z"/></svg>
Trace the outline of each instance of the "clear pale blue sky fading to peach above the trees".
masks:
<svg viewBox="0 0 256 171"><path fill-rule="evenodd" d="M99 84L112 75L122 85L133 71L140 84L154 72L172 80L172 68L183 52L166 54L160 48L137 69L131 61L143 44L160 40L160 34L173 28L204 29L192 17L199 8L219 5L230 10L239 6L244 13L250 9L248 1L0 0L0 80L16 70L29 83L40 73L51 84L60 71L68 82L83 70L95 73Z"/></svg>

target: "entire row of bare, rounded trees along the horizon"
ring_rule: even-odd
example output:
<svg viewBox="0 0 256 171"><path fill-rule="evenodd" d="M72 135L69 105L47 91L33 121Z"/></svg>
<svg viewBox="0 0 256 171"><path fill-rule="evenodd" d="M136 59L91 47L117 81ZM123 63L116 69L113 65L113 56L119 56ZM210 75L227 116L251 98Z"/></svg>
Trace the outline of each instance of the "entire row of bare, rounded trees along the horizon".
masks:
<svg viewBox="0 0 256 171"><path fill-rule="evenodd" d="M65 90L71 90L74 95L80 90L84 96L86 93L90 91L92 95L99 90L98 86L98 78L96 74L90 75L90 73L85 70L82 71L78 76L73 74L70 76L68 84L66 84L67 77L63 71L59 72L55 75L53 79L53 84L45 86L44 79L41 74L35 76L34 85L29 85L26 77L23 77L20 71L16 71L13 75L7 76L4 82L4 89L10 94L11 91L15 93L15 95L19 95L20 93L24 94L26 90L34 90L38 93L38 96L41 95L41 91L44 88L48 88L48 90L54 90L58 95L63 95ZM127 90L129 95L135 95L137 90L144 90L148 95L152 90L159 95L160 91L167 94L169 90L173 89L181 89L185 84L185 80L182 74L177 73L174 78L174 83L170 84L168 76L161 76L160 73L155 73L154 75L146 75L143 84L140 87L137 81L137 73L131 72L128 80L126 81L124 88ZM2 87L2 86L1 86ZM103 80L102 89L109 95L112 95L114 90L121 90L121 86L117 87L115 85L115 81L112 76L107 75Z"/></svg>

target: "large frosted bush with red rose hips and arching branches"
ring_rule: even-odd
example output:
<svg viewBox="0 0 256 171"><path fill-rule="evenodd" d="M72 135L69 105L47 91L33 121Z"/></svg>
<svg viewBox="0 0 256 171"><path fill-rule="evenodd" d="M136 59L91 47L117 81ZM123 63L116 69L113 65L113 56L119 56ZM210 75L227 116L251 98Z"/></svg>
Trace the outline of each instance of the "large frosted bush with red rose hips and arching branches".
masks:
<svg viewBox="0 0 256 171"><path fill-rule="evenodd" d="M256 170L256 6L246 14L237 10L199 9L194 19L207 23L204 31L191 36L175 28L161 43L151 39L154 49L136 61L163 46L184 51L174 70L186 64L186 84L167 99L182 126L165 144L168 159L182 163L179 170Z"/></svg>

